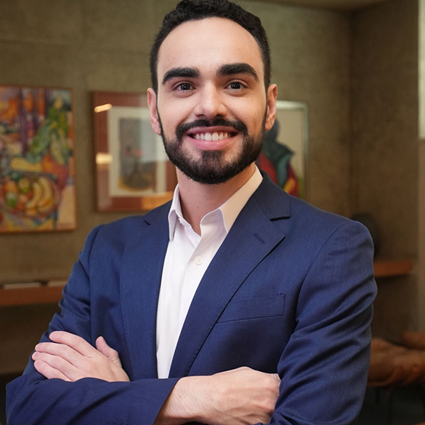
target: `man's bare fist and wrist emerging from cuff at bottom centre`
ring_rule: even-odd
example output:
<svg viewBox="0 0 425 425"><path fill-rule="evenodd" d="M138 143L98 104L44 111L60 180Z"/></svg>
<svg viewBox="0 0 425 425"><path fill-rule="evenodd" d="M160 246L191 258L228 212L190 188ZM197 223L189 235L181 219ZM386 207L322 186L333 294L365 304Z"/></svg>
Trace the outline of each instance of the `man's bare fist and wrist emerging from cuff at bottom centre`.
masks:
<svg viewBox="0 0 425 425"><path fill-rule="evenodd" d="M181 378L155 425L198 421L210 425L247 425L270 421L279 395L277 374L238 368L211 376Z"/></svg>

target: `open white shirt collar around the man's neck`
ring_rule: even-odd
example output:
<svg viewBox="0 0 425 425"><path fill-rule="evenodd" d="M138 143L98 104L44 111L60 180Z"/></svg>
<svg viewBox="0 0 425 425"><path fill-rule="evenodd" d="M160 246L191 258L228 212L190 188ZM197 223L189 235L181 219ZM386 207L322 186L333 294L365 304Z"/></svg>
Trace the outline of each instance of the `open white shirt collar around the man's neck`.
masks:
<svg viewBox="0 0 425 425"><path fill-rule="evenodd" d="M242 211L242 208L244 208L249 198L251 198L252 194L260 186L261 181L263 181L263 176L261 176L258 167L255 166L254 174L252 174L249 180L246 181L246 183L244 183L244 185L239 188L235 193L233 193L233 195L230 196L230 198L227 199L225 203L222 203L222 205L217 208L217 210L220 210L222 218L224 220L226 233L229 233L229 230L237 219L239 212ZM211 214L212 212L213 211L208 212L208 214ZM189 223L183 218L183 213L181 212L179 184L177 184L176 188L174 189L173 200L171 202L171 208L169 211L170 241L174 239L174 232L176 230L176 224L178 221L181 225L190 227Z"/></svg>

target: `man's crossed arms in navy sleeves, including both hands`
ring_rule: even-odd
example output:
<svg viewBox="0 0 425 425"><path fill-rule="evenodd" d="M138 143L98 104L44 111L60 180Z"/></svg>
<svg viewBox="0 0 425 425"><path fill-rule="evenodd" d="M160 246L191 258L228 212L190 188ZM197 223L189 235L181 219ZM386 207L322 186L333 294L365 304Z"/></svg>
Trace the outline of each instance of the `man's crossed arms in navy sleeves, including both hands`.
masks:
<svg viewBox="0 0 425 425"><path fill-rule="evenodd" d="M30 361L24 375L8 385L8 424L115 421L172 425L198 421L229 425L270 421L312 425L319 422L319 415L327 415L323 424L353 424L367 375L370 302L375 286L370 239L357 225L342 227L329 238L303 280L296 305L297 327L276 370L282 378L280 384L273 374L250 368L180 379L135 377L128 348L120 339L120 322L111 323L92 312L89 282L91 276L101 273L94 266L90 271L89 265L96 229L64 290L62 312L52 320L50 333L42 337L33 354L35 362ZM353 254L344 258L341 241L347 239ZM329 278L323 270L331 270L335 276ZM109 289L103 287L102 291ZM103 322L108 322L106 329ZM69 334L55 332L65 330ZM107 339L119 336L110 344L120 358L99 334L108 334ZM94 341L96 348L87 341Z"/></svg>

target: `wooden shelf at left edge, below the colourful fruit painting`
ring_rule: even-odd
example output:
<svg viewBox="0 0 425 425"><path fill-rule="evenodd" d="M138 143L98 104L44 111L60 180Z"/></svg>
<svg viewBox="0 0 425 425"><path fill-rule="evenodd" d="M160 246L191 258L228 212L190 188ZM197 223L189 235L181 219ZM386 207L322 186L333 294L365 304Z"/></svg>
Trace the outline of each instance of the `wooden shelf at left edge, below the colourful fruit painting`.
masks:
<svg viewBox="0 0 425 425"><path fill-rule="evenodd" d="M0 289L0 307L59 302L63 286Z"/></svg>

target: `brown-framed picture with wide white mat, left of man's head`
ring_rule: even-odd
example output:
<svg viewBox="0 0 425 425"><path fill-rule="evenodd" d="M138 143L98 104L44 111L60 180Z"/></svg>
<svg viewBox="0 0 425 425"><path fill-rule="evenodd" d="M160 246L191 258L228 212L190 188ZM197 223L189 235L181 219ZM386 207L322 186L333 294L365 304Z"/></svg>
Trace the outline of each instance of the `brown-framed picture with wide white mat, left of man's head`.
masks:
<svg viewBox="0 0 425 425"><path fill-rule="evenodd" d="M145 94L94 92L94 138L98 211L149 211L173 197L176 171Z"/></svg>

